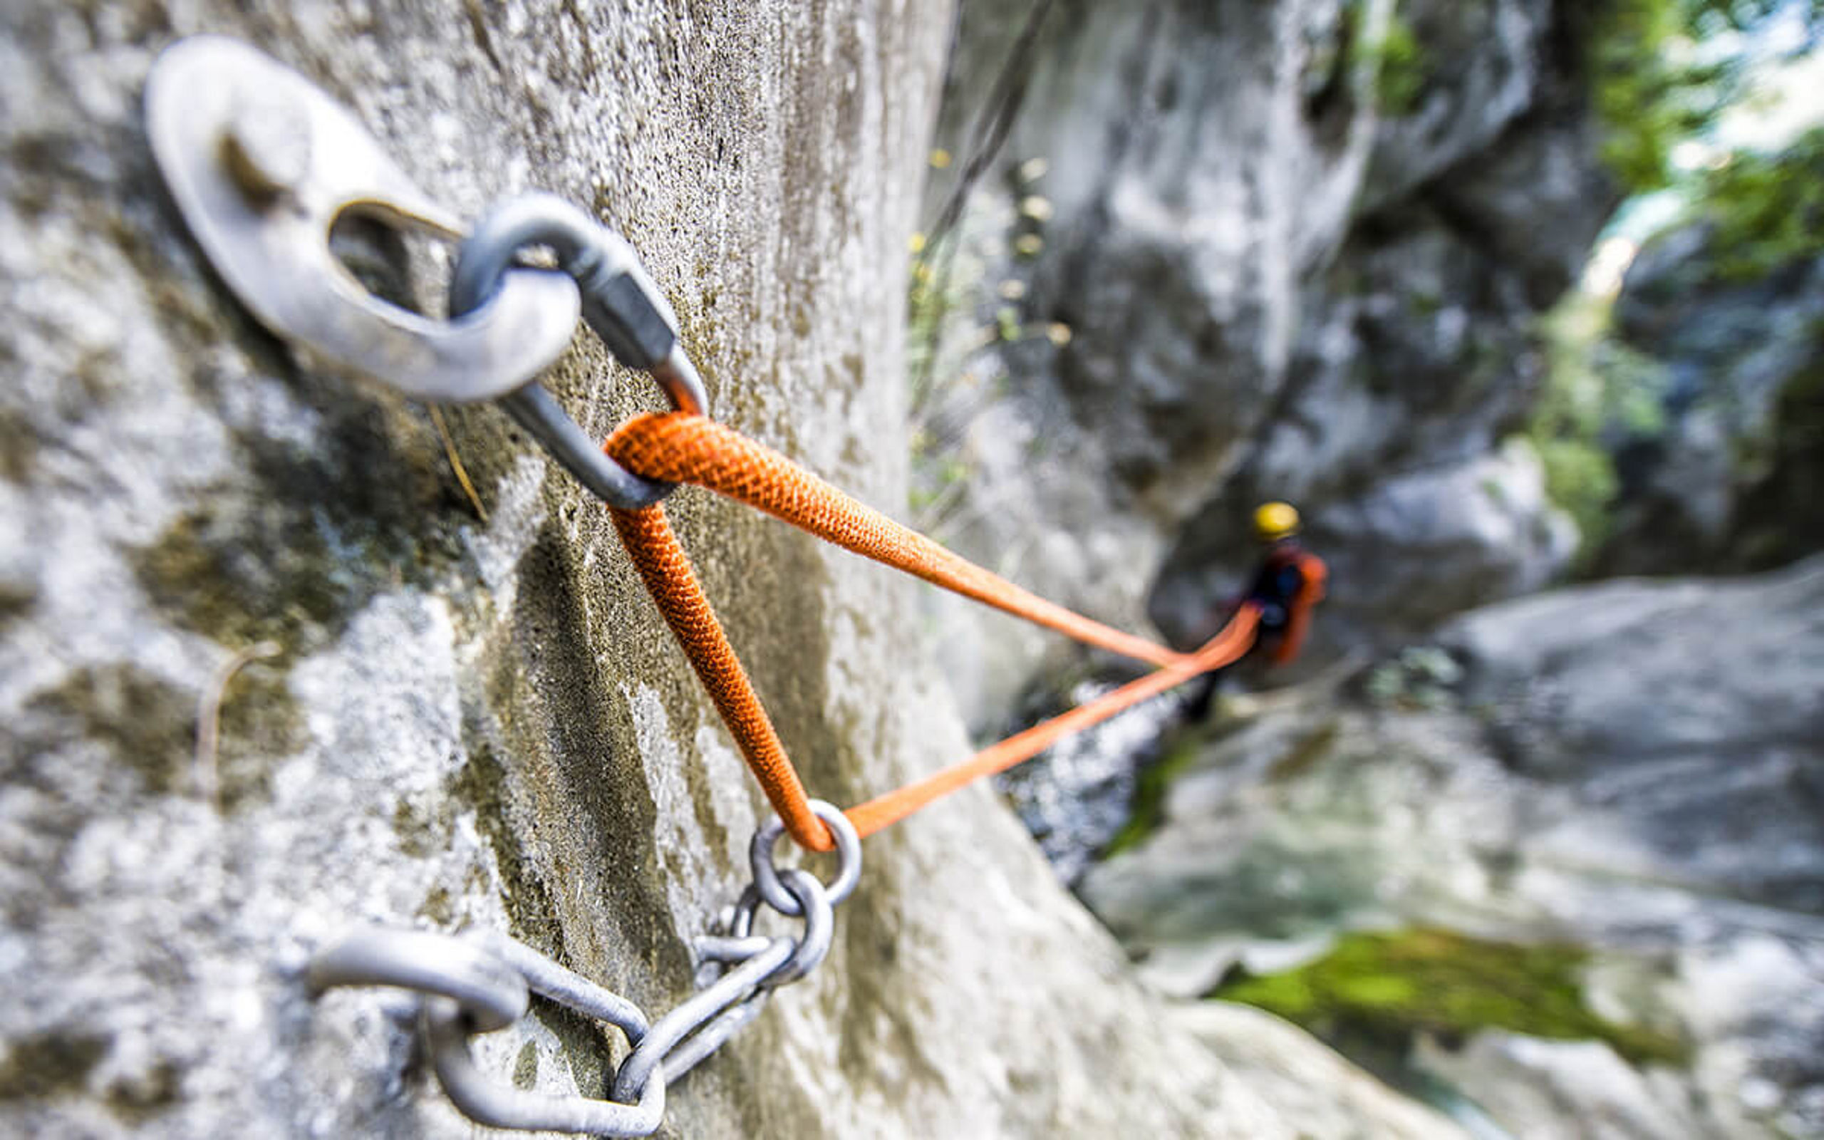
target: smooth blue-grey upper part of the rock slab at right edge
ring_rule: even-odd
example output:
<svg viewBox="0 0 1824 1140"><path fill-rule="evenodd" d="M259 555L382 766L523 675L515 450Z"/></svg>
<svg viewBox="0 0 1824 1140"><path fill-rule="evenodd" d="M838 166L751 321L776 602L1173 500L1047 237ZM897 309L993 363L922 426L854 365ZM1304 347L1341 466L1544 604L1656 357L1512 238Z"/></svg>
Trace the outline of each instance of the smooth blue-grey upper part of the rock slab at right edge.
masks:
<svg viewBox="0 0 1824 1140"><path fill-rule="evenodd" d="M1439 644L1501 757L1625 812L1656 874L1824 914L1820 602L1817 560L1742 584L1623 580L1472 613Z"/></svg>

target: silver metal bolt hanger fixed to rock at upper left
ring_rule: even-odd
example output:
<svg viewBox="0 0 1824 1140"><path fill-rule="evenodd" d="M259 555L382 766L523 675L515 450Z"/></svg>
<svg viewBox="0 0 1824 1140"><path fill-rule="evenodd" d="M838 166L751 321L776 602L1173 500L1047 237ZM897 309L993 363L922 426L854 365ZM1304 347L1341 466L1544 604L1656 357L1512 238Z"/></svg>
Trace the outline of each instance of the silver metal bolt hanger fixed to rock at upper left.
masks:
<svg viewBox="0 0 1824 1140"><path fill-rule="evenodd" d="M483 305L436 321L368 294L330 252L352 208L456 241L461 223L303 75L224 36L181 40L146 80L153 157L184 221L275 336L414 399L498 399L567 348L582 295L511 268Z"/></svg>

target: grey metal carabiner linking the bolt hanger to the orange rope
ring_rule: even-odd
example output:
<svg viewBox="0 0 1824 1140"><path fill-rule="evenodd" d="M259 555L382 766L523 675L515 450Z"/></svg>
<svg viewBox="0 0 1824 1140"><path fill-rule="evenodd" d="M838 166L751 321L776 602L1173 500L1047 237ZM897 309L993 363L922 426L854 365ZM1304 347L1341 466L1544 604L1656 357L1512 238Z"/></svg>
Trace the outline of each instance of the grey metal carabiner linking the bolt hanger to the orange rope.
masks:
<svg viewBox="0 0 1824 1140"><path fill-rule="evenodd" d="M624 237L576 206L549 193L531 193L496 206L476 224L456 255L451 316L489 303L525 248L545 246L582 290L582 319L615 359L649 372L682 412L706 414L710 398L697 367L679 343L677 314L640 266ZM657 503L673 483L646 480L607 458L600 443L571 420L536 381L500 398L507 412L576 480L615 507Z"/></svg>

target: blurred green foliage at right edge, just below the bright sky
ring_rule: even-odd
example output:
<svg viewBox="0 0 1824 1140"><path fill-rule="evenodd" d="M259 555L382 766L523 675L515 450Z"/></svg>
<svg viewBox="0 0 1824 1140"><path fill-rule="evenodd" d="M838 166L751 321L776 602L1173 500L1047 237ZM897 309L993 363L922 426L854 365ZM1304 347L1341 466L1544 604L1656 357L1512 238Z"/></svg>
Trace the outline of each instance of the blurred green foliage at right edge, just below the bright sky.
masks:
<svg viewBox="0 0 1824 1140"><path fill-rule="evenodd" d="M1824 128L1775 155L1736 151L1705 171L1696 213L1713 226L1716 272L1764 277L1824 252Z"/></svg>

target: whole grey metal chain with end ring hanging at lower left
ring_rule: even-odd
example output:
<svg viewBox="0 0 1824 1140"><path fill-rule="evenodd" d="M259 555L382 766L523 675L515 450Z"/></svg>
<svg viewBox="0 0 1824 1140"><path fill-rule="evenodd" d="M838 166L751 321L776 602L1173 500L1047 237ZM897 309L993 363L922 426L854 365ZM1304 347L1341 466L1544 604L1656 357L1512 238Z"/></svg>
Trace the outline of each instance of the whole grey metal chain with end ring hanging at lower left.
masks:
<svg viewBox="0 0 1824 1140"><path fill-rule="evenodd" d="M627 998L576 974L522 941L498 932L465 936L372 927L347 936L310 959L314 992L385 985L421 994L420 1025L432 1071L463 1114L500 1129L649 1136L664 1120L666 1091L751 1023L779 987L823 963L835 930L835 905L861 876L861 845L848 819L812 801L837 837L837 874L826 886L801 868L773 865L784 824L773 817L748 848L753 883L724 912L717 932L693 941L697 992L648 1021ZM792 910L773 907L773 883ZM761 903L801 919L797 936L753 932ZM615 1069L609 1098L549 1096L498 1083L476 1069L469 1040L507 1029L525 1016L531 994L613 1025L633 1047Z"/></svg>

